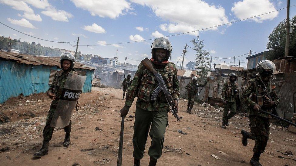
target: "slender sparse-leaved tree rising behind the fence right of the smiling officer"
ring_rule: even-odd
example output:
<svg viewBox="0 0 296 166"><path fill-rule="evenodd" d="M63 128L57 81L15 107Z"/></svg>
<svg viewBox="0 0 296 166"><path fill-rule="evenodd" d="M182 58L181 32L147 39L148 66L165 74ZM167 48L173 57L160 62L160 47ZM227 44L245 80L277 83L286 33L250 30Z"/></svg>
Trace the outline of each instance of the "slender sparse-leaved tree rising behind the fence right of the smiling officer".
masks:
<svg viewBox="0 0 296 166"><path fill-rule="evenodd" d="M194 45L194 50L196 51L196 69L197 74L201 79L206 80L208 71L210 71L210 58L206 57L210 53L204 49L204 40L200 40L200 37L197 36L196 39L193 39L191 43Z"/></svg>

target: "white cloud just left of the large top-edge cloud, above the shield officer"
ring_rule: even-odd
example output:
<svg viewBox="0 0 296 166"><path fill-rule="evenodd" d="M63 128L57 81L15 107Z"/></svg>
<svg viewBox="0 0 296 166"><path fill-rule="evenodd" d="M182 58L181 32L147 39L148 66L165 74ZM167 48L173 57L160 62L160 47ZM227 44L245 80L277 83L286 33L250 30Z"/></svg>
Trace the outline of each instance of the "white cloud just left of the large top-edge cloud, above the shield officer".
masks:
<svg viewBox="0 0 296 166"><path fill-rule="evenodd" d="M46 11L41 11L42 14L51 17L55 21L64 21L69 22L69 18L72 18L73 15L64 10L56 10L55 8L48 8Z"/></svg>

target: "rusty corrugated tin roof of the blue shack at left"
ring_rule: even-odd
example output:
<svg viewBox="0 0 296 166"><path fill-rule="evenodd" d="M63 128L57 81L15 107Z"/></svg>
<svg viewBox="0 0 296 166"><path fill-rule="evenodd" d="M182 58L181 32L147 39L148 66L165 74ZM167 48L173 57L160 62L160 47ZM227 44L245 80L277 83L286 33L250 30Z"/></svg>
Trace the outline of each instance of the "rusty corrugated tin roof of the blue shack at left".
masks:
<svg viewBox="0 0 296 166"><path fill-rule="evenodd" d="M45 66L57 66L60 67L60 57L35 57L26 54L16 54L12 52L0 52L0 60L14 61L17 63L32 64L35 66L45 65ZM85 69L85 70L95 70L96 68L86 66L81 63L75 63L75 68Z"/></svg>

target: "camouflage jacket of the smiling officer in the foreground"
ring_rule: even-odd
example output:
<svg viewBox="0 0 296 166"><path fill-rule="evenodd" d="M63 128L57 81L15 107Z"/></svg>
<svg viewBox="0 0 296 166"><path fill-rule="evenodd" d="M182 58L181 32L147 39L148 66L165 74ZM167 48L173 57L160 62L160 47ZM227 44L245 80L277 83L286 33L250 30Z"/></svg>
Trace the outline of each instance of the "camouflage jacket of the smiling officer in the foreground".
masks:
<svg viewBox="0 0 296 166"><path fill-rule="evenodd" d="M179 82L177 80L177 68L172 62L166 66L154 69L160 73L168 90L174 99L179 98ZM153 91L159 86L155 76L140 63L138 70L126 94L126 106L131 106L135 97L138 97L136 106L147 111L163 111L170 109L169 104L162 91L158 94L156 101L151 101Z"/></svg>

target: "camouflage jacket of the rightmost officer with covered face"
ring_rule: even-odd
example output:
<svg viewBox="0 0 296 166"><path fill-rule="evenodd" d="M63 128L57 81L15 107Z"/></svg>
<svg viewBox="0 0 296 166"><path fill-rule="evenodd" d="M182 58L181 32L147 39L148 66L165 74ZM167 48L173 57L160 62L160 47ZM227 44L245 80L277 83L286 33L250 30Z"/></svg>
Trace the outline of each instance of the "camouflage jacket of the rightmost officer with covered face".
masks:
<svg viewBox="0 0 296 166"><path fill-rule="evenodd" d="M275 106L278 106L278 104L280 104L280 99L278 98L278 95L274 91L274 88L272 88L273 85L274 84L272 82L268 82L266 84L266 87L267 87L268 92L271 95L272 100L275 103ZM264 85L261 83L261 81L258 77L255 77L248 82L248 85L241 96L241 101L247 105L248 115L262 116L265 118L269 118L269 115L267 115L263 112L260 112L260 111L257 112L255 110L253 110L253 107L257 102L256 96L262 96L262 95L264 96L264 94L265 94L264 92L265 92ZM252 95L251 98L250 98L250 95ZM271 112L271 108L266 108L266 107L262 106L261 109L263 109L267 112Z"/></svg>

